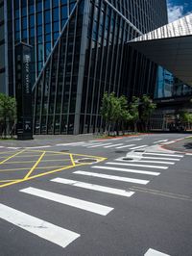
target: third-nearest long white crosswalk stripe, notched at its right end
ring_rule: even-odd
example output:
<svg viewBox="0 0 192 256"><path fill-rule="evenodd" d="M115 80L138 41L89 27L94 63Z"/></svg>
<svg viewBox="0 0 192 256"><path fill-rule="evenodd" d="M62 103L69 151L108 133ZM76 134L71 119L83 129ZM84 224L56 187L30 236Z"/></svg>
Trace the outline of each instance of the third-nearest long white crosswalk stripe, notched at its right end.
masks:
<svg viewBox="0 0 192 256"><path fill-rule="evenodd" d="M127 197L131 197L132 194L134 193L134 192L130 192L130 191L113 189L113 188L109 188L109 187L104 187L104 186L100 186L100 185L96 185L96 184L80 182L80 181L76 181L76 180L55 178L51 181L58 182L58 183L61 183L61 184L70 185L70 186L75 186L75 187L79 187L79 188L83 188L83 189L87 189L87 190L91 190L91 191L108 192L108 193L127 196Z"/></svg>

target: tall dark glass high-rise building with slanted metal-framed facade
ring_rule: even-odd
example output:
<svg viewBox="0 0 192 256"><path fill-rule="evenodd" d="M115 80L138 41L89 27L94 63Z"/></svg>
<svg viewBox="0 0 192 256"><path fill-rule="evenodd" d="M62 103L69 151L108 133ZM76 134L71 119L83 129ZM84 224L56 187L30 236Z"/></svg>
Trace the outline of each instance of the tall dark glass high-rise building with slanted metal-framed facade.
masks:
<svg viewBox="0 0 192 256"><path fill-rule="evenodd" d="M156 64L126 42L167 23L166 0L0 0L0 16L4 91L17 87L15 45L32 45L36 134L97 131L105 91L154 94Z"/></svg>

